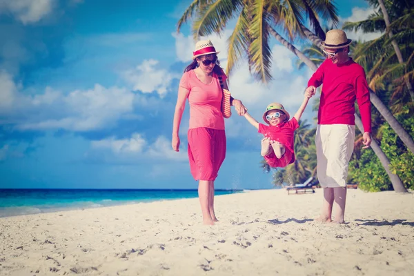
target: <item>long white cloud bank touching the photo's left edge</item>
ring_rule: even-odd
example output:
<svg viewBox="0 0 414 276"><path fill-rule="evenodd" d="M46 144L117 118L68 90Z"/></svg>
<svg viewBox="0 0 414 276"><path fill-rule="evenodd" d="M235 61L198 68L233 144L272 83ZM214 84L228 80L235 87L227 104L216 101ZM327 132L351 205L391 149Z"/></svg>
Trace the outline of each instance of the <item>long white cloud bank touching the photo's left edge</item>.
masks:
<svg viewBox="0 0 414 276"><path fill-rule="evenodd" d="M139 97L126 88L99 84L67 95L52 88L46 88L43 94L26 95L10 75L0 72L0 115L3 123L15 124L21 130L106 128L121 118L137 119L132 113Z"/></svg>

